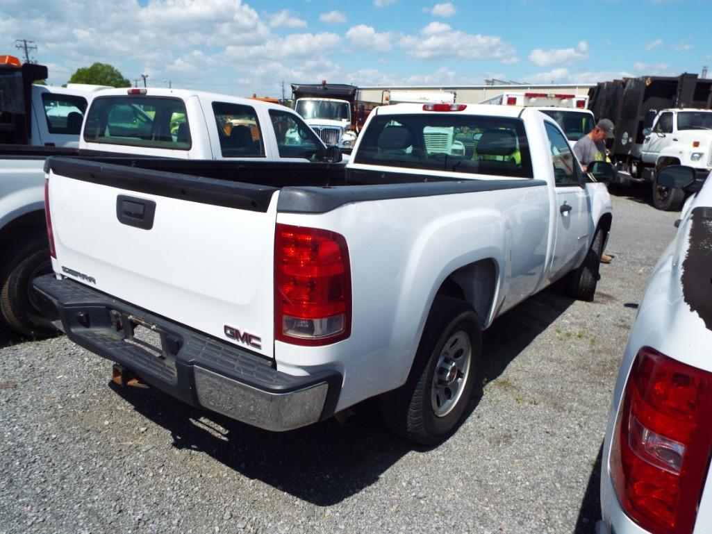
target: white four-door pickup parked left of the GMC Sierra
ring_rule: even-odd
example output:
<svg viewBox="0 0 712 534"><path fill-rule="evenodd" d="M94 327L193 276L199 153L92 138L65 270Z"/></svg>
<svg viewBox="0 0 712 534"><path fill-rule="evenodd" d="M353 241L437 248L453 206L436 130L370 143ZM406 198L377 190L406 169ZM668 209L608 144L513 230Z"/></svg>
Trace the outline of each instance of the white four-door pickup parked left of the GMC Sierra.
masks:
<svg viewBox="0 0 712 534"><path fill-rule="evenodd" d="M190 90L103 90L91 100L80 135L87 98L76 100L80 98L76 90L71 97L42 86L33 86L33 91L45 102L44 108L33 112L33 132L51 127L55 120L51 117L58 116L51 115L53 110L68 108L48 106L49 102L72 98L81 114L68 112L64 119L66 125L67 117L78 117L72 135L63 130L61 139L46 137L56 147L0 146L0 246L8 251L0 258L0 317L25 335L55 331L38 314L30 286L34 276L51 272L44 222L47 157L122 155L302 163L341 158L339 150L326 147L299 115L281 105ZM36 100L33 96L33 103ZM42 120L45 110L46 121Z"/></svg>

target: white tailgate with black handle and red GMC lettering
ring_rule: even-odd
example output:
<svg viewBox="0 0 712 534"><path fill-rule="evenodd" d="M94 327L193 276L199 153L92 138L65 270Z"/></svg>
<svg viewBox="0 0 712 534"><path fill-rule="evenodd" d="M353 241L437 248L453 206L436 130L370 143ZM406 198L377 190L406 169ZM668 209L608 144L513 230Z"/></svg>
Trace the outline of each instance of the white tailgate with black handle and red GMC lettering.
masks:
<svg viewBox="0 0 712 534"><path fill-rule="evenodd" d="M56 272L272 357L276 189L61 163L48 163Z"/></svg>

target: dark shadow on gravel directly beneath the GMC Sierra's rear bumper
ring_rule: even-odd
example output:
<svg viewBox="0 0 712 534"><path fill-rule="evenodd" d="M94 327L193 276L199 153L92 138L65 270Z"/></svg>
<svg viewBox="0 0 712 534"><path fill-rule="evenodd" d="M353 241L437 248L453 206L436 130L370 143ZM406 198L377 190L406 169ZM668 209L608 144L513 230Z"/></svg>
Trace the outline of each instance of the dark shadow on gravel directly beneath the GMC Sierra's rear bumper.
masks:
<svg viewBox="0 0 712 534"><path fill-rule="evenodd" d="M374 402L356 407L346 424L330 419L274 433L195 409L157 389L110 387L137 412L170 431L173 446L209 454L222 464L317 506L363 491L412 451L386 429Z"/></svg>

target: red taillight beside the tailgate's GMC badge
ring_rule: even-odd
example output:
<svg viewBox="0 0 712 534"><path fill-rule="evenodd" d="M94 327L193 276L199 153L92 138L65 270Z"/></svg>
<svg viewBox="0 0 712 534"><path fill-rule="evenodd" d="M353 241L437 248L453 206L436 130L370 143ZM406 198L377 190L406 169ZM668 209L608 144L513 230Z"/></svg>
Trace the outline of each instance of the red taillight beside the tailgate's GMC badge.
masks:
<svg viewBox="0 0 712 534"><path fill-rule="evenodd" d="M351 273L344 237L278 224L274 256L275 339L328 345L349 337Z"/></svg>

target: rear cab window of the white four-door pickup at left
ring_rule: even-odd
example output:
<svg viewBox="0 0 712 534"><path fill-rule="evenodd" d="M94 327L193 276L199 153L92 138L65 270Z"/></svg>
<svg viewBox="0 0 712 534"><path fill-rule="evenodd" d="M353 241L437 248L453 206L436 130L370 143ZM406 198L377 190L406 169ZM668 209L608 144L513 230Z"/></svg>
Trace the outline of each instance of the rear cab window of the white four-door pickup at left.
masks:
<svg viewBox="0 0 712 534"><path fill-rule="evenodd" d="M191 147L183 100L144 95L95 98L84 127L84 140L174 150Z"/></svg>

